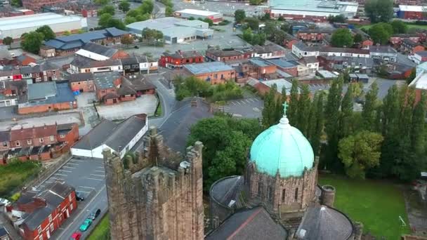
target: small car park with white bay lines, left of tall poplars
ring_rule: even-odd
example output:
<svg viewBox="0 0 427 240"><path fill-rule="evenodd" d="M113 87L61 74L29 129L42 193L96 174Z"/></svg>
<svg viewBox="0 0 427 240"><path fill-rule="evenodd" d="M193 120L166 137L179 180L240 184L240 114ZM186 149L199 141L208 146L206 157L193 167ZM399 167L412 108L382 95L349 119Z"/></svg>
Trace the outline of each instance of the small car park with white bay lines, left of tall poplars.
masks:
<svg viewBox="0 0 427 240"><path fill-rule="evenodd" d="M261 98L244 98L229 101L227 105L219 107L222 112L227 112L237 117L251 119L261 118L264 108L264 101Z"/></svg>

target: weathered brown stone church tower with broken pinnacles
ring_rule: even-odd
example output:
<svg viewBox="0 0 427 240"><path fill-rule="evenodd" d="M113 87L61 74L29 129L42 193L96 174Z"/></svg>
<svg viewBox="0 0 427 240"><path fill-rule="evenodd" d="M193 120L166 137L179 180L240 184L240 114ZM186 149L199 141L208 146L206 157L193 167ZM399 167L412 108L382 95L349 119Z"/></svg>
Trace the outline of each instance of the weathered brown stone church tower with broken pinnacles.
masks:
<svg viewBox="0 0 427 240"><path fill-rule="evenodd" d="M183 159L151 128L130 170L129 159L104 152L112 239L204 238L202 148L196 142Z"/></svg>

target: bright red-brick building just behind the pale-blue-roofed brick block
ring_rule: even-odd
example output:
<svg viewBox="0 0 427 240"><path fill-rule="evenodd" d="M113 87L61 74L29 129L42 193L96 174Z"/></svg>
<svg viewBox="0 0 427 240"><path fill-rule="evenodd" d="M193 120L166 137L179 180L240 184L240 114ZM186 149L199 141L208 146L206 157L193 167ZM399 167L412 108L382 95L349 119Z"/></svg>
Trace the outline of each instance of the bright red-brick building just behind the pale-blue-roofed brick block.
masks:
<svg viewBox="0 0 427 240"><path fill-rule="evenodd" d="M183 65L204 62L204 57L197 51L176 51L175 53L163 53L159 59L159 65L170 69L181 69Z"/></svg>

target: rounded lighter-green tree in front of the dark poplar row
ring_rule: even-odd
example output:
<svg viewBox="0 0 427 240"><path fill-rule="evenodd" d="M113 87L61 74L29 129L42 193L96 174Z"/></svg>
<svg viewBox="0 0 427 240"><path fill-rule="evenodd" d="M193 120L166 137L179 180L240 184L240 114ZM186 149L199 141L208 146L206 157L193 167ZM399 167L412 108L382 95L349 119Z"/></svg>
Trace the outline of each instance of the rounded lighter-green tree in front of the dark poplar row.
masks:
<svg viewBox="0 0 427 240"><path fill-rule="evenodd" d="M361 131L339 141L339 158L350 178L364 178L365 171L379 166L383 136Z"/></svg>

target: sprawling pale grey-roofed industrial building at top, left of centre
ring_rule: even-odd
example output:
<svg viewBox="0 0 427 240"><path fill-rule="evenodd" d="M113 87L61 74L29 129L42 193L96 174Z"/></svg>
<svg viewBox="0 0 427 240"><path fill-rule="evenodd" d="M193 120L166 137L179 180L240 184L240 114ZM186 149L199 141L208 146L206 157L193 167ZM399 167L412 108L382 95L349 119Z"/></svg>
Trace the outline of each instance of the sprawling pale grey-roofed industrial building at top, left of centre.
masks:
<svg viewBox="0 0 427 240"><path fill-rule="evenodd" d="M172 17L133 22L126 27L138 36L145 27L159 30L163 33L165 44L179 44L196 39L209 39L213 36L213 29L209 29L207 22Z"/></svg>

